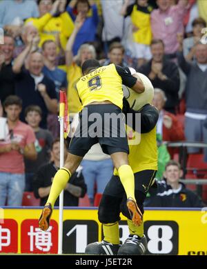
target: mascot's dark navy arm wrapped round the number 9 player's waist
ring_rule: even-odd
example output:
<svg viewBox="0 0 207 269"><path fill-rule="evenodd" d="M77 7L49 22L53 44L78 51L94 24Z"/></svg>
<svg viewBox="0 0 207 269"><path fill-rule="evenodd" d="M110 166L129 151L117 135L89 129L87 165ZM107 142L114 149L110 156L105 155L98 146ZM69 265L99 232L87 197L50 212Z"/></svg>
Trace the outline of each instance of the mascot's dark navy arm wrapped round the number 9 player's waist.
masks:
<svg viewBox="0 0 207 269"><path fill-rule="evenodd" d="M141 114L141 133L144 134L146 132L150 132L153 128L155 128L157 121L158 121L158 117L159 117L159 112L157 110L157 108L155 108L155 106L150 105L149 103L147 103L145 106L143 106L140 110L135 111L132 108L130 108L128 101L126 100L126 98L124 97L123 99L123 110L122 112L125 114L125 116L130 113L132 114L132 129L135 131L139 131L136 130L136 126L139 126L139 124L136 123L136 120L138 119L136 117L137 113ZM126 117L127 119L127 117ZM126 124L128 124L126 122Z"/></svg>

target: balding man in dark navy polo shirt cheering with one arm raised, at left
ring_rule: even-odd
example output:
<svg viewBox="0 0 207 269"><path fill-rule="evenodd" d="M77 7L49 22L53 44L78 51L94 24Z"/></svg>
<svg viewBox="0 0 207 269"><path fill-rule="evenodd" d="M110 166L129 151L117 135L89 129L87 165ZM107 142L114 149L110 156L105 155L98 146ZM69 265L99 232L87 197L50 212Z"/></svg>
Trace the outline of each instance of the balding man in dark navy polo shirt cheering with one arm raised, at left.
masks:
<svg viewBox="0 0 207 269"><path fill-rule="evenodd" d="M39 52L31 52L32 40L28 46L19 54L12 67L14 73L19 74L16 79L16 94L23 100L21 119L24 121L24 110L26 106L37 105L42 110L41 128L47 128L48 112L57 113L57 95L55 84L43 73L43 56ZM28 57L28 70L23 64Z"/></svg>

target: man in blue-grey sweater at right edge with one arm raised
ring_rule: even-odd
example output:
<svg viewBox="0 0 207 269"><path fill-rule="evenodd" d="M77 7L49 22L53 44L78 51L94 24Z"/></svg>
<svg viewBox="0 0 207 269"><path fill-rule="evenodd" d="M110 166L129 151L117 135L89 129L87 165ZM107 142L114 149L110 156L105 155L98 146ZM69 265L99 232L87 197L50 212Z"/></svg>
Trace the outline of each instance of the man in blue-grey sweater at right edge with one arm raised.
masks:
<svg viewBox="0 0 207 269"><path fill-rule="evenodd" d="M207 142L207 45L197 43L195 46L195 63L186 61L183 54L183 42L179 39L178 62L187 76L186 82L186 122L187 141ZM188 148L189 153L199 152L199 148ZM205 160L207 161L207 150Z"/></svg>

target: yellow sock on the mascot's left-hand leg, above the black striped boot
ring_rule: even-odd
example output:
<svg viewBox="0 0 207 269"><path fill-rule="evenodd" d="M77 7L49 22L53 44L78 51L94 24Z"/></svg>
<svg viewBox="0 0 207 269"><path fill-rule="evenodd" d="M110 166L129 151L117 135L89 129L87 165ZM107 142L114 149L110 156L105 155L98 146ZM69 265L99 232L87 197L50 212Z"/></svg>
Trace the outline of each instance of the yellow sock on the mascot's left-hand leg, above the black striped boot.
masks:
<svg viewBox="0 0 207 269"><path fill-rule="evenodd" d="M109 243L119 244L119 223L103 223L104 240Z"/></svg>

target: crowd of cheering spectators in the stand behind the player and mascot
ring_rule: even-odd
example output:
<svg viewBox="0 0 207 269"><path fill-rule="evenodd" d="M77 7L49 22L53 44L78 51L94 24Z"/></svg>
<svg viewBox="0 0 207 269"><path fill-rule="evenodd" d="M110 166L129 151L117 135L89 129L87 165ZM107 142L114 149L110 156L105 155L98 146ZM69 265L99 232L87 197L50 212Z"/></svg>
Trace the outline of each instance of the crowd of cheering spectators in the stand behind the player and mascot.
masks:
<svg viewBox="0 0 207 269"><path fill-rule="evenodd" d="M130 66L150 79L159 146L185 139L207 143L206 22L207 1L201 0L0 0L0 117L8 119L0 141L0 206L21 205L23 190L41 199L48 194L42 189L49 190L52 174L47 183L37 177L45 173L41 165L55 172L59 90L67 92L72 121L81 108L76 83L86 59ZM173 159L176 151L165 150ZM103 163L110 175L112 163L98 148L83 160L91 203L94 190L103 192L110 179L96 175ZM90 166L96 171L89 172Z"/></svg>

